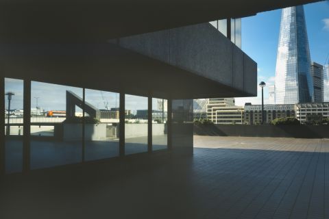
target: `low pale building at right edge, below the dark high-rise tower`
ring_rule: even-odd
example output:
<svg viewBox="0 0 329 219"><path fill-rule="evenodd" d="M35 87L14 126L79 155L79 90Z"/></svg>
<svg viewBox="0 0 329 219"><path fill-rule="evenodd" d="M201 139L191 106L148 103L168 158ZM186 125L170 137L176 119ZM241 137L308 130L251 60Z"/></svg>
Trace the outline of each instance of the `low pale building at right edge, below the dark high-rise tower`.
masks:
<svg viewBox="0 0 329 219"><path fill-rule="evenodd" d="M321 121L323 118L329 118L329 103L297 103L295 112L301 123Z"/></svg>

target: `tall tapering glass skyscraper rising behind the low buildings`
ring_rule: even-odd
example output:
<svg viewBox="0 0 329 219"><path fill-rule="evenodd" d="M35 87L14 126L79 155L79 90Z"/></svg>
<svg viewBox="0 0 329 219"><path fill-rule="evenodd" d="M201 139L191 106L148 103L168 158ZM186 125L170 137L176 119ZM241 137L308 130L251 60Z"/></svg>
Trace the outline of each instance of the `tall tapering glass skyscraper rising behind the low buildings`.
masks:
<svg viewBox="0 0 329 219"><path fill-rule="evenodd" d="M313 102L310 50L302 5L284 8L276 59L275 102Z"/></svg>

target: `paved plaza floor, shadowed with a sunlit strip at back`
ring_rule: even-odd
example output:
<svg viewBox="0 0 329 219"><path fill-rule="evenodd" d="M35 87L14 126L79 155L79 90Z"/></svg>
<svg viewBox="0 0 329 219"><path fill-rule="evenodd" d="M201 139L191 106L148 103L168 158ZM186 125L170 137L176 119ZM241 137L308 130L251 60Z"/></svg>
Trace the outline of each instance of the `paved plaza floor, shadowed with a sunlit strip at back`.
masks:
<svg viewBox="0 0 329 219"><path fill-rule="evenodd" d="M116 174L97 164L12 175L0 184L0 218L329 218L329 140L194 144L193 157Z"/></svg>

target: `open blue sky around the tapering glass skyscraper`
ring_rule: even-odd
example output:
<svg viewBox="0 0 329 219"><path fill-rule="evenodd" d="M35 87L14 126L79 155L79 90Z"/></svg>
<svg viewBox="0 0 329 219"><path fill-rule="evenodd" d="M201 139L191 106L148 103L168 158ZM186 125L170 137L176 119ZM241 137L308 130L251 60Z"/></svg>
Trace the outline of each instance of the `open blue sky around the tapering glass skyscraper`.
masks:
<svg viewBox="0 0 329 219"><path fill-rule="evenodd" d="M310 58L324 64L329 54L329 1L304 5ZM242 19L242 50L258 64L258 83L265 81L273 84L276 75L276 53L278 47L281 10L259 13ZM265 104L268 98L265 87ZM261 103L260 88L258 96L236 98L236 105L246 102Z"/></svg>

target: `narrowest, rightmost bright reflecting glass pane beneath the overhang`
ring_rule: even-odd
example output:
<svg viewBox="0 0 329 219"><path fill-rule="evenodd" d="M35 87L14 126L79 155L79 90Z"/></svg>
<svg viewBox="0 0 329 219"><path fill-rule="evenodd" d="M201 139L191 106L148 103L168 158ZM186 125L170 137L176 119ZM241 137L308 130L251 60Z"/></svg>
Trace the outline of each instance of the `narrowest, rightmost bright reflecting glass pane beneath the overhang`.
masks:
<svg viewBox="0 0 329 219"><path fill-rule="evenodd" d="M152 149L167 149L167 100L152 99Z"/></svg>

